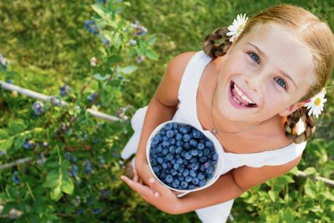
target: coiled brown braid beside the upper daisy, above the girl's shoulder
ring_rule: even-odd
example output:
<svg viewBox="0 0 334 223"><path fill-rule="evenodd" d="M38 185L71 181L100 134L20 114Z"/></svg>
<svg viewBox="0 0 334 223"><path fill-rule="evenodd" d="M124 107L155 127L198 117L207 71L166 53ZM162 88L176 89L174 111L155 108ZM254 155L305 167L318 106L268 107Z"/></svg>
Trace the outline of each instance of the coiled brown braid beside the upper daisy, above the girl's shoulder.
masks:
<svg viewBox="0 0 334 223"><path fill-rule="evenodd" d="M228 28L223 27L216 29L212 34L208 34L203 44L203 51L211 58L216 58L217 56L223 56L228 51L231 46L231 42L228 40L231 36L227 36ZM221 39L223 43L215 44L215 40Z"/></svg>

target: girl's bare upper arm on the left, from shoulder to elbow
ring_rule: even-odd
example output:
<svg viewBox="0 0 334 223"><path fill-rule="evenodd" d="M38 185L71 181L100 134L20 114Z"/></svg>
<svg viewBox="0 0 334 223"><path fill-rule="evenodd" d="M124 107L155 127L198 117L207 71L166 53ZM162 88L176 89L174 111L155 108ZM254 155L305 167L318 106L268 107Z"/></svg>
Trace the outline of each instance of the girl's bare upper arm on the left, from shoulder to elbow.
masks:
<svg viewBox="0 0 334 223"><path fill-rule="evenodd" d="M163 77L153 95L164 106L178 105L178 89L181 85L181 80L186 66L191 58L196 54L196 51L188 51L178 54L168 62L167 68Z"/></svg>

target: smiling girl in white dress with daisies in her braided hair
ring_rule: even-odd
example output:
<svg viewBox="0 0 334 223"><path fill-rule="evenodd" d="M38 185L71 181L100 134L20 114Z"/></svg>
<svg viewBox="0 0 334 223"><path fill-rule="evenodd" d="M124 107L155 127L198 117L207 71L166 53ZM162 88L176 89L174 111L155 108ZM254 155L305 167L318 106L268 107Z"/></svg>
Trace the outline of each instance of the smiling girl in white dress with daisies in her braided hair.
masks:
<svg viewBox="0 0 334 223"><path fill-rule="evenodd" d="M334 64L330 28L298 6L261 11L235 27L243 28L240 36L235 30L231 37L229 28L208 35L203 51L171 60L153 99L134 114L135 133L122 152L123 159L136 153L133 180L122 176L129 187L163 212L196 211L202 222L225 222L236 197L298 164L315 131L305 103L323 89ZM176 195L154 180L146 143L171 119L221 143L224 171L211 187Z"/></svg>

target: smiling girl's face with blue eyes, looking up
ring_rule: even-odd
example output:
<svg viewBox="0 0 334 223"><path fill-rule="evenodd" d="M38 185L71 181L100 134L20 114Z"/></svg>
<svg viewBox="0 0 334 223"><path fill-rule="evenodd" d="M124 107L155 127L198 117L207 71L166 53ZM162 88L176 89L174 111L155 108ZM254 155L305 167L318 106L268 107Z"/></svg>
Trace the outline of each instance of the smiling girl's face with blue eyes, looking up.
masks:
<svg viewBox="0 0 334 223"><path fill-rule="evenodd" d="M275 24L259 24L228 49L218 75L221 114L231 121L260 122L303 106L297 101L315 82L315 67L310 51L293 35Z"/></svg>

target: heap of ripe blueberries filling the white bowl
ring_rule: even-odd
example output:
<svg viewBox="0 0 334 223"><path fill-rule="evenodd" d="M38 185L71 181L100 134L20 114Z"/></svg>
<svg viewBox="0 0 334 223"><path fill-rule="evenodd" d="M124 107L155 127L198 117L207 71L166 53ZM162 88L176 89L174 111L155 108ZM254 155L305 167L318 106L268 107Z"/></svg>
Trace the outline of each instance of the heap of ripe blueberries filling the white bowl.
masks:
<svg viewBox="0 0 334 223"><path fill-rule="evenodd" d="M218 154L213 142L187 124L169 122L151 139L149 162L156 176L174 189L195 189L213 177Z"/></svg>

